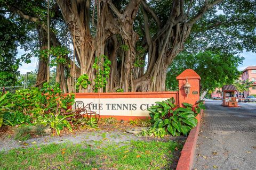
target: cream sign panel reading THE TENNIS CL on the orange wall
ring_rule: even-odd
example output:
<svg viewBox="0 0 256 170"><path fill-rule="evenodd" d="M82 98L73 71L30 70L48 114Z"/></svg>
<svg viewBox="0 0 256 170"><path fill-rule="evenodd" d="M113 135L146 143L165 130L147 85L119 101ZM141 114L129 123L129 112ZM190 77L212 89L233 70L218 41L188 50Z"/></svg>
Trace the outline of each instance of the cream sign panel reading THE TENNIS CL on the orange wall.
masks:
<svg viewBox="0 0 256 170"><path fill-rule="evenodd" d="M106 116L149 116L147 108L167 98L76 98L73 108L89 109Z"/></svg>

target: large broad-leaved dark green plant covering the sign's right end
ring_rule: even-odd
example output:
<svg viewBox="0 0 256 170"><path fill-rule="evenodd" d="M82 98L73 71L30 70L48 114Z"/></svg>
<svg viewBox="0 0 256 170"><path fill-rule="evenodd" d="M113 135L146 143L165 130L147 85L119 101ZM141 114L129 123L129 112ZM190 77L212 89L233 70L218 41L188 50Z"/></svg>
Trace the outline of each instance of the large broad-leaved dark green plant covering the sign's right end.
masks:
<svg viewBox="0 0 256 170"><path fill-rule="evenodd" d="M196 106L192 106L188 103L183 103L185 108L176 109L177 106L174 102L174 98L170 98L164 101L157 101L157 105L148 108L153 128L151 130L155 132L154 134L163 136L164 134L161 133L161 128L163 128L173 136L187 135L190 129L197 125L195 117L204 108L204 105L199 103ZM159 128L160 130L157 130Z"/></svg>

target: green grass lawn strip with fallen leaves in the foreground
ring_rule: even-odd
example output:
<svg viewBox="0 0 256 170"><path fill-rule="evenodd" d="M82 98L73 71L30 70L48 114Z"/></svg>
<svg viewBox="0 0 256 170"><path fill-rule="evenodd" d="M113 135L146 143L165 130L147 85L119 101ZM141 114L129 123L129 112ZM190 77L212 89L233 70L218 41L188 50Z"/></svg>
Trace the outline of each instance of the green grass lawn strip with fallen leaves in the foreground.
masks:
<svg viewBox="0 0 256 170"><path fill-rule="evenodd" d="M177 142L50 144L0 152L0 169L170 169Z"/></svg>

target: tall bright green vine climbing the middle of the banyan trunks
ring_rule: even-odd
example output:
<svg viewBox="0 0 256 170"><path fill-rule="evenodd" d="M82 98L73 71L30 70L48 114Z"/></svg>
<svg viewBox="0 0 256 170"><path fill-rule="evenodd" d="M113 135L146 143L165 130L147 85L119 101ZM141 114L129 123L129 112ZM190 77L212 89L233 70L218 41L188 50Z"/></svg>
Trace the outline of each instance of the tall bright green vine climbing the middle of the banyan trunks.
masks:
<svg viewBox="0 0 256 170"><path fill-rule="evenodd" d="M96 76L93 80L95 82L94 92L98 92L100 88L106 87L107 78L110 74L111 62L108 60L106 55L95 57L95 62L92 67L96 70Z"/></svg>

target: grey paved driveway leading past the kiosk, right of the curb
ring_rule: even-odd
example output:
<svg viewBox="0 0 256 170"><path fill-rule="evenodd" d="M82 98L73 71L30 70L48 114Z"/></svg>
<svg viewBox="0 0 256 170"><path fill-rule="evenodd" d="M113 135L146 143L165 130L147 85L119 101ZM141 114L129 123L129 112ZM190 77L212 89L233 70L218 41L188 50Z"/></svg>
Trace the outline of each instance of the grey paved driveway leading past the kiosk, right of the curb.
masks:
<svg viewBox="0 0 256 170"><path fill-rule="evenodd" d="M193 169L256 169L256 105L220 104L206 101Z"/></svg>

